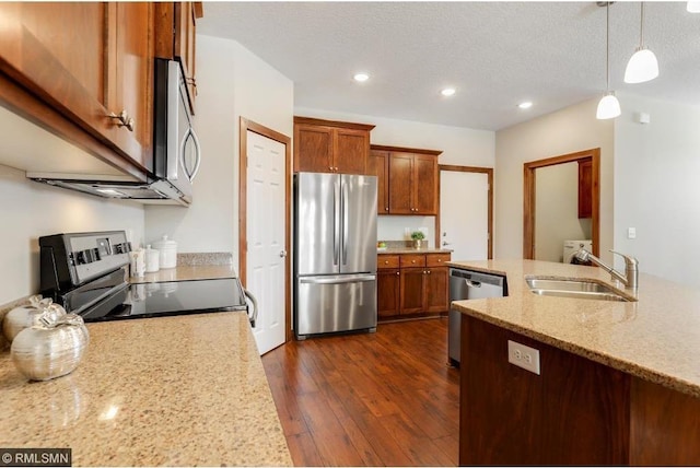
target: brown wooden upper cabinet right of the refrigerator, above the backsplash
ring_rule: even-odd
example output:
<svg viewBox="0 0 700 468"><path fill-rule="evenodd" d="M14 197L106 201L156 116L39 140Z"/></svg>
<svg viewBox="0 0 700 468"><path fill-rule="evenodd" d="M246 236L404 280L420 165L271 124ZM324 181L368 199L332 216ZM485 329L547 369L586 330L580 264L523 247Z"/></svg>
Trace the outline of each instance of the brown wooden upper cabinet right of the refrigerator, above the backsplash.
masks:
<svg viewBox="0 0 700 468"><path fill-rule="evenodd" d="M371 149L370 174L380 178L380 187L385 190L384 204L377 203L377 214L438 214L441 151L382 145Z"/></svg>

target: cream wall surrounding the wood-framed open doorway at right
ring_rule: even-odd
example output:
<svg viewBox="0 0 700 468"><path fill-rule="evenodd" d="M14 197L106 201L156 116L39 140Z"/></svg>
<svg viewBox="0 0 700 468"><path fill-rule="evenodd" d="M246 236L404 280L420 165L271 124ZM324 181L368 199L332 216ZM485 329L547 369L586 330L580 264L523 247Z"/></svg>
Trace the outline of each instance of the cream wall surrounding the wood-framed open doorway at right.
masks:
<svg viewBox="0 0 700 468"><path fill-rule="evenodd" d="M597 120L597 100L495 133L494 258L523 257L523 164L600 148L600 256L611 261L614 122Z"/></svg>

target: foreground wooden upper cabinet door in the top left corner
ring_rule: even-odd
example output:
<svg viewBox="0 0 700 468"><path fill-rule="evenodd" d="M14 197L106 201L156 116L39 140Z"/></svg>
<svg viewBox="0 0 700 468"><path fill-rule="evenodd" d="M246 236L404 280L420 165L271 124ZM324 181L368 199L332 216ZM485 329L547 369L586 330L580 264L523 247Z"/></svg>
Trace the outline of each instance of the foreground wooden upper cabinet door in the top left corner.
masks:
<svg viewBox="0 0 700 468"><path fill-rule="evenodd" d="M0 2L0 69L98 133L106 102L107 3Z"/></svg>

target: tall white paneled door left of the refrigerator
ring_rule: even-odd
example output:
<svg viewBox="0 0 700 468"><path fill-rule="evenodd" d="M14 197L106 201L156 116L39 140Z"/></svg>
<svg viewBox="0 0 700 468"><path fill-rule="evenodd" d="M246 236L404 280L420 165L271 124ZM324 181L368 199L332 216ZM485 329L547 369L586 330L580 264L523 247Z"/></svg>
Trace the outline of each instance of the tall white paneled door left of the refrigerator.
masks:
<svg viewBox="0 0 700 468"><path fill-rule="evenodd" d="M260 354L284 342L284 144L247 130L246 289L258 302Z"/></svg>

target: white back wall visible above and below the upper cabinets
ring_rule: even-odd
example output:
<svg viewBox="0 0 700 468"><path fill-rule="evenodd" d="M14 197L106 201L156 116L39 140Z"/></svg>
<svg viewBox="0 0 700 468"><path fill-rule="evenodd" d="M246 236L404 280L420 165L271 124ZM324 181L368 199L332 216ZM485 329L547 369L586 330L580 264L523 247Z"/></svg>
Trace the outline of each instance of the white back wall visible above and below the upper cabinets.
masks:
<svg viewBox="0 0 700 468"><path fill-rule="evenodd" d="M370 133L372 144L440 150L440 164L493 167L495 162L495 133L487 130L448 127L410 120L338 113L307 107L295 107L294 115L328 120L370 124L376 127ZM377 220L377 238L405 241L405 227L428 230L428 244L434 245L434 217L382 215Z"/></svg>

